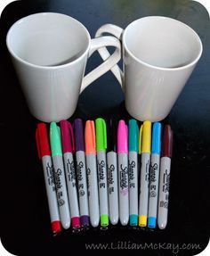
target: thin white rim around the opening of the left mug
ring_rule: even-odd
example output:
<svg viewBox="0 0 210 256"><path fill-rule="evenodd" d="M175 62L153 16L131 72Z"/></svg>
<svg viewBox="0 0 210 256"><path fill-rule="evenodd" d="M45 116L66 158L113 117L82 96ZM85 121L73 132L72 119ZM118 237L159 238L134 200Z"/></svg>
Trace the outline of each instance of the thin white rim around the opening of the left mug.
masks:
<svg viewBox="0 0 210 256"><path fill-rule="evenodd" d="M20 58L20 56L18 54L15 54L14 51L12 50L12 46L9 43L9 39L12 35L12 30L15 29L15 27L19 26L19 24L23 21L27 21L28 19L31 19L32 17L36 17L36 19L37 19L38 16L43 16L43 15L65 16L65 17L68 17L69 19L71 19L72 21L76 22L77 24L79 24L84 29L85 34L88 38L88 45L86 46L84 53L81 54L77 59L75 59L71 62L61 64L61 65L55 65L55 66L37 65L37 64L31 63L31 62L27 62L27 61L23 60L22 58ZM85 28L85 26L80 21L77 21L75 18L73 18L67 14L60 13L60 12L36 12L33 14L29 14L28 16L22 17L22 18L20 18L20 20L15 21L6 34L7 49L10 52L10 54L12 54L12 57L14 59L18 60L19 62L22 62L30 67L34 67L34 68L42 69L42 70L54 70L54 69L58 69L58 68L65 68L65 67L68 67L69 65L73 65L73 64L79 62L81 59L83 59L85 57L85 55L89 51L90 44L91 44L91 36L90 36L90 33L88 32L88 30Z"/></svg>

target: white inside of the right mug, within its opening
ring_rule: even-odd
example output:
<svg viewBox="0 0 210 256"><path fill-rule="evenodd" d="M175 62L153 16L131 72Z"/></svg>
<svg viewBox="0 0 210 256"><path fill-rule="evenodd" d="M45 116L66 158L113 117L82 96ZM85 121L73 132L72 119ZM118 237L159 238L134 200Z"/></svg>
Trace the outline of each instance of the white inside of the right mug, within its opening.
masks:
<svg viewBox="0 0 210 256"><path fill-rule="evenodd" d="M166 17L133 21L125 29L123 41L135 59L158 68L181 68L196 62L202 53L197 33L181 21Z"/></svg>

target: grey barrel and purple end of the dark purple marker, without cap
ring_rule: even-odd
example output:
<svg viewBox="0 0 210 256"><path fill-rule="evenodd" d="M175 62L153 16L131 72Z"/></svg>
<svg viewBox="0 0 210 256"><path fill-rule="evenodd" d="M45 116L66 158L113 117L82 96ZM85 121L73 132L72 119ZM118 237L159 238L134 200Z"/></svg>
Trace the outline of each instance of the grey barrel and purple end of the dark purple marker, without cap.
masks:
<svg viewBox="0 0 210 256"><path fill-rule="evenodd" d="M88 227L90 217L89 217L89 209L88 209L85 152L77 151L76 160L77 160L77 188L78 188L80 221L81 221L82 227Z"/></svg>

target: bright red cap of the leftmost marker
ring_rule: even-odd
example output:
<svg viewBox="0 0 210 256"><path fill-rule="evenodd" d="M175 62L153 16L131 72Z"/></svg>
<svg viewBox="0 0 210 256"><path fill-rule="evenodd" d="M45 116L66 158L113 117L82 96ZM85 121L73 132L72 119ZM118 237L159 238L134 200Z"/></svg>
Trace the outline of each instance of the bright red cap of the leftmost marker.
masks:
<svg viewBox="0 0 210 256"><path fill-rule="evenodd" d="M47 128L44 123L38 123L36 128L36 146L38 157L42 158L44 155L51 155Z"/></svg>

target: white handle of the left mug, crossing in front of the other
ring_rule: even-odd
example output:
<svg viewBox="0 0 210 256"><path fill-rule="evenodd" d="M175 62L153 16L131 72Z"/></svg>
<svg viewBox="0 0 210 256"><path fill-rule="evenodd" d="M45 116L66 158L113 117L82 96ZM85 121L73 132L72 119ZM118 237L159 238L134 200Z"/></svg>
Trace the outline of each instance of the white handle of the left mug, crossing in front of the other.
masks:
<svg viewBox="0 0 210 256"><path fill-rule="evenodd" d="M98 66L97 68L92 70L90 73L85 75L85 77L83 78L80 93L84 91L85 87L88 87L91 83L93 83L94 80L96 80L97 78L100 78L103 74L109 71L121 59L121 44L116 37L110 37L110 36L93 38L91 40L88 58L96 50L99 50L101 47L104 47L106 49L106 46L116 47L114 54L112 55L109 54L109 56L104 60L104 62L100 66Z"/></svg>

